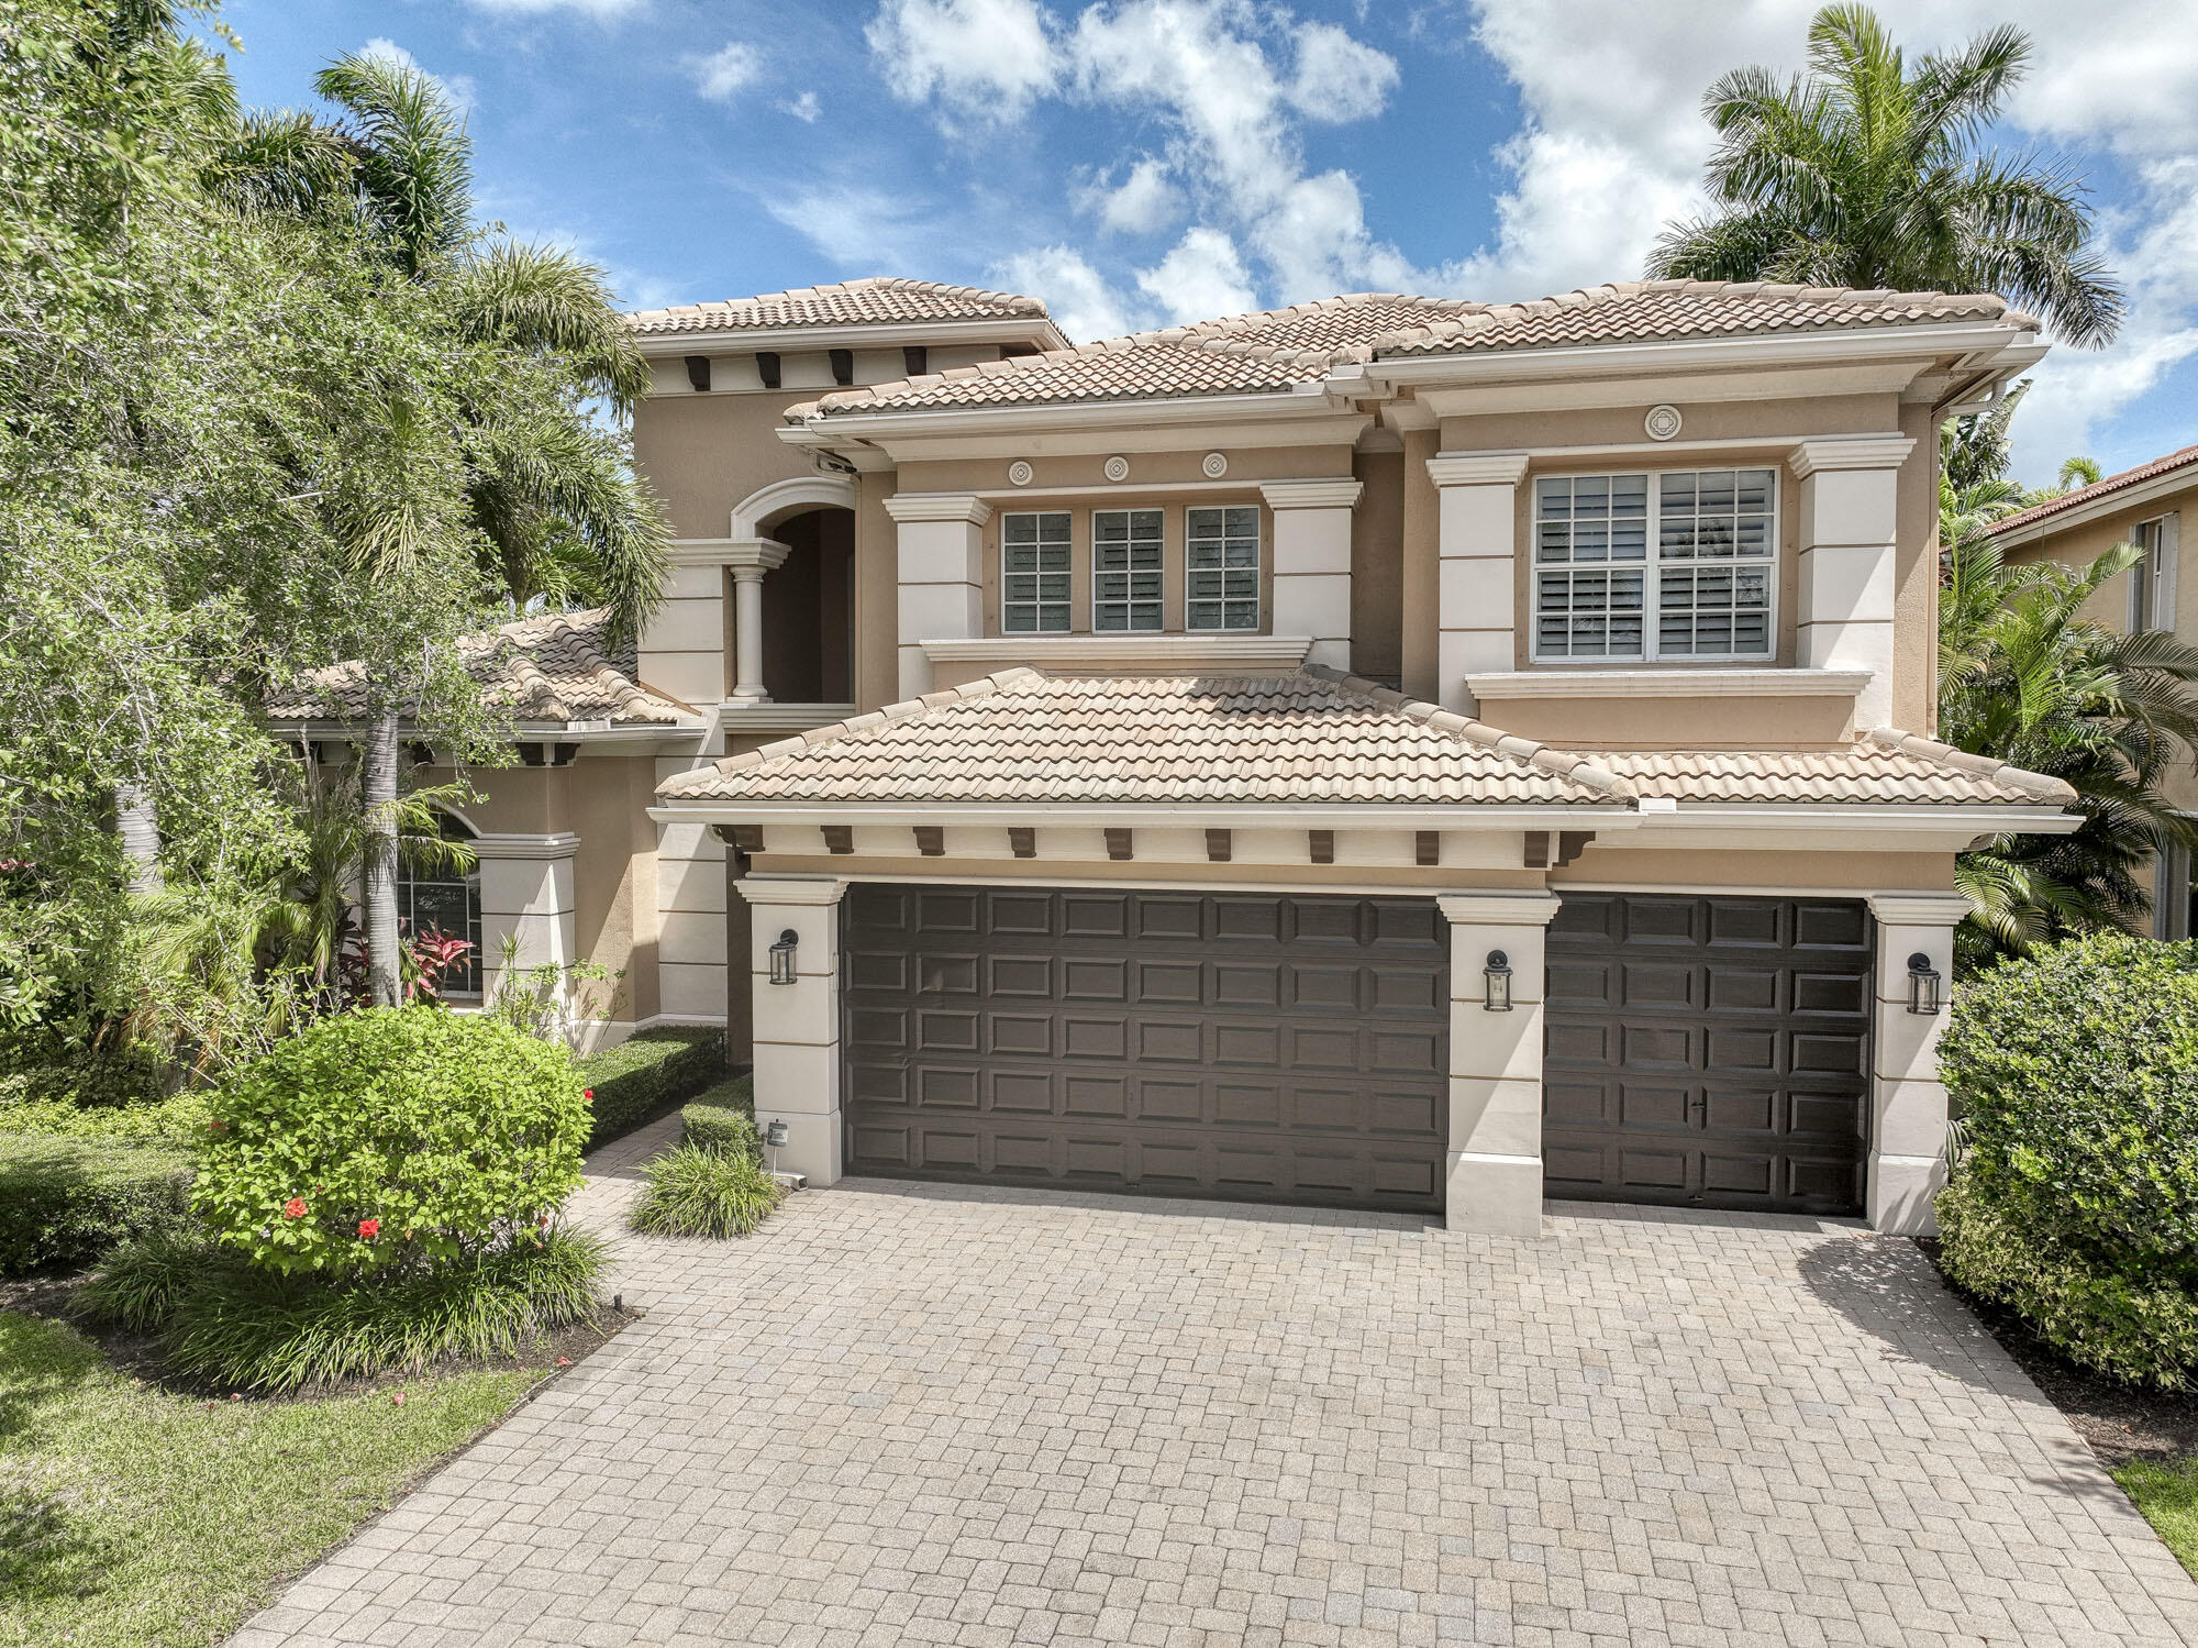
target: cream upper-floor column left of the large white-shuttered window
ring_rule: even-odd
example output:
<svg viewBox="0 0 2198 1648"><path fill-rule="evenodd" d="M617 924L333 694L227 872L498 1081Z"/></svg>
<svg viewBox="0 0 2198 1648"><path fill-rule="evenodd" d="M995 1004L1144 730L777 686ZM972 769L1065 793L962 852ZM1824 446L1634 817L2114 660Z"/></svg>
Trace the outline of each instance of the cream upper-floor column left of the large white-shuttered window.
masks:
<svg viewBox="0 0 2198 1648"><path fill-rule="evenodd" d="M1525 453L1435 453L1435 699L1470 710L1468 675L1517 668L1519 481Z"/></svg>

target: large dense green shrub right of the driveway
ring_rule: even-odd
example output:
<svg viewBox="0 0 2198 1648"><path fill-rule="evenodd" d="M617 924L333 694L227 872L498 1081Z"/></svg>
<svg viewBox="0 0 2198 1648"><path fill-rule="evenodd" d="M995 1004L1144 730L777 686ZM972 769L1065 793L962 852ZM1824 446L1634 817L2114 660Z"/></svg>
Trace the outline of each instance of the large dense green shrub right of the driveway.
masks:
<svg viewBox="0 0 2198 1648"><path fill-rule="evenodd" d="M1941 1042L1967 1154L1943 1263L2071 1360L2198 1371L2198 945L2106 934L1972 980Z"/></svg>

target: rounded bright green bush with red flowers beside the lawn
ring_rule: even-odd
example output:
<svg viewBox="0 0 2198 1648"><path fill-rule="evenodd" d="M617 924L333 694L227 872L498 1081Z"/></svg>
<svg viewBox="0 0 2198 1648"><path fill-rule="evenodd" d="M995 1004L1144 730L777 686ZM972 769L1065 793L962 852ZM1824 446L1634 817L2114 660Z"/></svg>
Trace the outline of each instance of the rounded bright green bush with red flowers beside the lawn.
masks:
<svg viewBox="0 0 2198 1648"><path fill-rule="evenodd" d="M550 1224L587 1129L563 1048L433 1006L343 1013L215 1096L191 1200L281 1274L477 1259Z"/></svg>

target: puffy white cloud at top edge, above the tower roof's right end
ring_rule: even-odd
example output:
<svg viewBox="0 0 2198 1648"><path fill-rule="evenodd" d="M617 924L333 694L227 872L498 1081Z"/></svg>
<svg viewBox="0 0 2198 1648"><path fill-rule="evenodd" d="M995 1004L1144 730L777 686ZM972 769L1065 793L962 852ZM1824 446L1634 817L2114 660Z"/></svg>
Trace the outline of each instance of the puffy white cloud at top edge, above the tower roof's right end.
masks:
<svg viewBox="0 0 2198 1648"><path fill-rule="evenodd" d="M886 0L864 40L895 97L969 123L1022 119L1057 75L1035 0Z"/></svg>

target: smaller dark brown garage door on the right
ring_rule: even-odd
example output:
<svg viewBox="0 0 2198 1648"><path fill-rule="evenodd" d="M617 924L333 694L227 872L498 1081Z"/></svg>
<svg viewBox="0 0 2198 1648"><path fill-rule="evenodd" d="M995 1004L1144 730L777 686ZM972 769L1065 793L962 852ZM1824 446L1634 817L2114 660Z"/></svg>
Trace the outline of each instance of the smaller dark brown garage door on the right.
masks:
<svg viewBox="0 0 2198 1648"><path fill-rule="evenodd" d="M1862 1206L1866 905L1567 894L1547 1026L1550 1195Z"/></svg>

